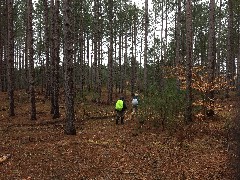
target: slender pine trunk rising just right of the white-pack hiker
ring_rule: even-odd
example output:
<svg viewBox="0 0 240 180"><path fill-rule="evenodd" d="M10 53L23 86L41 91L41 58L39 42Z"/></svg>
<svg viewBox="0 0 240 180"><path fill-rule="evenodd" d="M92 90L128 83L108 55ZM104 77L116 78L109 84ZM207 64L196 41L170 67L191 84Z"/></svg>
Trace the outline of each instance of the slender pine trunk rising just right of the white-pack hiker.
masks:
<svg viewBox="0 0 240 180"><path fill-rule="evenodd" d="M148 88L148 70L147 70L147 51L148 51L148 0L145 0L145 12L144 12L144 92L147 93Z"/></svg>

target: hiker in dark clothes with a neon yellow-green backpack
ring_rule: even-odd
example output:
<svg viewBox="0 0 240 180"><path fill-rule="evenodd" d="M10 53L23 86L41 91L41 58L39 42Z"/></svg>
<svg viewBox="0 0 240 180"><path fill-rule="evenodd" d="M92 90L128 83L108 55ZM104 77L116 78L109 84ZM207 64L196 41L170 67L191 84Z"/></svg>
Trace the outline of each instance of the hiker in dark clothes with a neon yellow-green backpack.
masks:
<svg viewBox="0 0 240 180"><path fill-rule="evenodd" d="M121 124L124 124L124 113L125 110L127 109L124 97L121 96L120 99L117 100L116 106L115 106L115 111L116 111L116 124L118 124L118 120L121 120Z"/></svg>

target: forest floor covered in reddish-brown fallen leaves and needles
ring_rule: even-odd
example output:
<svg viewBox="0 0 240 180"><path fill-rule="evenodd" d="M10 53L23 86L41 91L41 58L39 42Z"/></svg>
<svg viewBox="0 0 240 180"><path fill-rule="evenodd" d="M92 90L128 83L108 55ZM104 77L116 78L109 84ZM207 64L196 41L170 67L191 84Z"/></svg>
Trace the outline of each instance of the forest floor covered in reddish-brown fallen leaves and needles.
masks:
<svg viewBox="0 0 240 180"><path fill-rule="evenodd" d="M195 120L176 132L141 125L129 111L116 125L113 107L76 104L77 134L67 136L63 104L52 120L50 103L38 94L37 120L30 121L27 95L15 96L10 118L7 93L0 93L0 179L238 179L236 97L222 102L233 107L222 112L228 118Z"/></svg>

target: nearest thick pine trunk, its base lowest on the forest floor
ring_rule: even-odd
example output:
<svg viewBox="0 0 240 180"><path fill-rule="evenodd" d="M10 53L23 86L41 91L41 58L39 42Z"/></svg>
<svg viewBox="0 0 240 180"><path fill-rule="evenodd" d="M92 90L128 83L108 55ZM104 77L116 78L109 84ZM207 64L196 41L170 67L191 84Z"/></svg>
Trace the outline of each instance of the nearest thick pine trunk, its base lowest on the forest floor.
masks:
<svg viewBox="0 0 240 180"><path fill-rule="evenodd" d="M66 124L65 134L75 135L74 92L73 92L73 29L71 0L63 0L63 36L64 36L64 79Z"/></svg>

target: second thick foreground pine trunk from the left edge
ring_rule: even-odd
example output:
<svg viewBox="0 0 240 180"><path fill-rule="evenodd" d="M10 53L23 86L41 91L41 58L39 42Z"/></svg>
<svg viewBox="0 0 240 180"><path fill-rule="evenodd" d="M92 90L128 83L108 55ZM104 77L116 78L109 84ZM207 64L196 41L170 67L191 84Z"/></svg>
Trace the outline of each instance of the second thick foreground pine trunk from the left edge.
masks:
<svg viewBox="0 0 240 180"><path fill-rule="evenodd" d="M31 102L31 120L36 120L36 100L35 100L35 73L33 59L33 26L32 26L32 0L28 0L28 60L29 60L29 93Z"/></svg>

